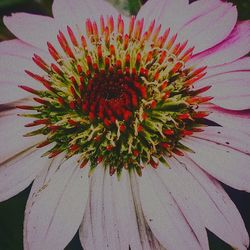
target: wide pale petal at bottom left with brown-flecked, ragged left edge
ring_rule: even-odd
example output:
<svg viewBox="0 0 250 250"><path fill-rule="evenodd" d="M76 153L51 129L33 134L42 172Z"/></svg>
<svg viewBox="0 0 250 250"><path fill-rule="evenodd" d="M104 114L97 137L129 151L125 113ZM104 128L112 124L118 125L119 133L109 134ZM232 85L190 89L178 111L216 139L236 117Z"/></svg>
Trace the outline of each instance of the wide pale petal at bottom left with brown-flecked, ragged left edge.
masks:
<svg viewBox="0 0 250 250"><path fill-rule="evenodd" d="M78 157L51 166L57 171L46 179L41 173L39 185L30 194L25 211L26 249L64 249L76 233L88 198L87 168L80 169ZM40 179L42 178L42 179ZM44 180L44 181L42 181Z"/></svg>

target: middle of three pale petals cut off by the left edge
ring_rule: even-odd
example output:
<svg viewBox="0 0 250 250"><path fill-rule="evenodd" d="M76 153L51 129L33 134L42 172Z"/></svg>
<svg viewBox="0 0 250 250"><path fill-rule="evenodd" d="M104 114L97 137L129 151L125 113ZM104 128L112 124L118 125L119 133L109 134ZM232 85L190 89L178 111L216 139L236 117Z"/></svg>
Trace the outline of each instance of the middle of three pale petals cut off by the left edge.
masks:
<svg viewBox="0 0 250 250"><path fill-rule="evenodd" d="M40 135L23 137L24 134L30 132L30 129L24 127L29 120L18 117L17 113L22 113L22 111L14 109L0 113L0 162L4 162L44 140L44 136Z"/></svg>

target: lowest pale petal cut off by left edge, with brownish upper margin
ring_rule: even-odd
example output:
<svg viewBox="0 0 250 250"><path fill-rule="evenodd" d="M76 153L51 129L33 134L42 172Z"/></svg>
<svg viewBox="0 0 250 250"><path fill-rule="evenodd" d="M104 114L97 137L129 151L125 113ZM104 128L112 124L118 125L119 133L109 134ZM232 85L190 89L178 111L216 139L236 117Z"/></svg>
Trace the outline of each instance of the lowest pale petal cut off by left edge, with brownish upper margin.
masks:
<svg viewBox="0 0 250 250"><path fill-rule="evenodd" d="M30 147L0 163L0 201L28 187L41 169L49 164L50 161L41 158L41 154L41 151Z"/></svg>

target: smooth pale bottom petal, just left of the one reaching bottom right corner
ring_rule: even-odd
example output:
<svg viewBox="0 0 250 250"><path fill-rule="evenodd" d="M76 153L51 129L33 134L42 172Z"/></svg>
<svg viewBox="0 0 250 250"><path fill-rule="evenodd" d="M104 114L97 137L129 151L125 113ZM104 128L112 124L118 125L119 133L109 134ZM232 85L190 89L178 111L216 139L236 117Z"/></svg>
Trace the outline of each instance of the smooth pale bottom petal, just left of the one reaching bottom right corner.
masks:
<svg viewBox="0 0 250 250"><path fill-rule="evenodd" d="M155 171L150 167L145 168L138 183L146 221L159 242L168 250L202 249L183 213Z"/></svg>

